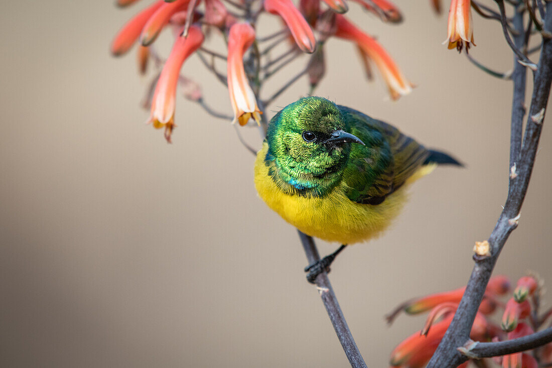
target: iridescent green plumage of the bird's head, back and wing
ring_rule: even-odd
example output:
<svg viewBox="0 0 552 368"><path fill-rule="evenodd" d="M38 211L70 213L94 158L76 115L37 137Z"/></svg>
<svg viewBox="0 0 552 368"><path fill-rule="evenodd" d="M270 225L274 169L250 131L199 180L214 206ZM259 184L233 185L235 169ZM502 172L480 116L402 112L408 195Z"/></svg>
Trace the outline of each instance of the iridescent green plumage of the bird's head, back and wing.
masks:
<svg viewBox="0 0 552 368"><path fill-rule="evenodd" d="M361 139L326 144L336 130ZM315 141L302 138L316 134ZM379 204L424 164L429 151L391 125L321 97L301 98L270 121L265 165L280 190L324 197L337 185L351 201Z"/></svg>

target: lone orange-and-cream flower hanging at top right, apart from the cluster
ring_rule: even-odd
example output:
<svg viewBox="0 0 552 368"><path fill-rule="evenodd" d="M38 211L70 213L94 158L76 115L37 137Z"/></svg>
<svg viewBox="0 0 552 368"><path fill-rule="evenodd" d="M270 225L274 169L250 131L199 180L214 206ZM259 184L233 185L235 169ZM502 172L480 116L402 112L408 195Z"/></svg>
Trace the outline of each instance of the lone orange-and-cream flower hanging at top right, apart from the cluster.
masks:
<svg viewBox="0 0 552 368"><path fill-rule="evenodd" d="M464 42L466 51L470 48L470 43L474 44L474 25L471 19L471 1L470 0L452 0L450 1L449 20L448 20L448 48L456 48L462 51ZM475 44L474 44L475 46Z"/></svg>

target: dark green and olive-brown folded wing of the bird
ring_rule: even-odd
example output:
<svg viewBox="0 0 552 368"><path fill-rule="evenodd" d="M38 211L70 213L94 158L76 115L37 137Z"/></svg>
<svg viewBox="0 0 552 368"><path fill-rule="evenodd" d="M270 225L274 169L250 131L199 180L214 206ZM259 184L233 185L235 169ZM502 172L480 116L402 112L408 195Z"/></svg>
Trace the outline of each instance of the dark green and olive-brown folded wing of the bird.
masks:
<svg viewBox="0 0 552 368"><path fill-rule="evenodd" d="M347 197L379 204L423 165L429 151L391 125L339 106L349 131L366 146L354 144L343 173Z"/></svg>

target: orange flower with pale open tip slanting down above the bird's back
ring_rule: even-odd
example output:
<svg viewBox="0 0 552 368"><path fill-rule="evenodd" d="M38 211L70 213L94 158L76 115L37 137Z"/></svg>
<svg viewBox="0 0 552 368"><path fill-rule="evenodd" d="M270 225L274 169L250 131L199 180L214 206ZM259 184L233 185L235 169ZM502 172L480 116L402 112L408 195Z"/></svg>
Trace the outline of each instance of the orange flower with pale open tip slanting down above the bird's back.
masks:
<svg viewBox="0 0 552 368"><path fill-rule="evenodd" d="M354 41L375 62L388 85L392 99L412 92L412 84L406 80L395 61L376 40L355 27L343 15L336 15L336 25L337 37Z"/></svg>

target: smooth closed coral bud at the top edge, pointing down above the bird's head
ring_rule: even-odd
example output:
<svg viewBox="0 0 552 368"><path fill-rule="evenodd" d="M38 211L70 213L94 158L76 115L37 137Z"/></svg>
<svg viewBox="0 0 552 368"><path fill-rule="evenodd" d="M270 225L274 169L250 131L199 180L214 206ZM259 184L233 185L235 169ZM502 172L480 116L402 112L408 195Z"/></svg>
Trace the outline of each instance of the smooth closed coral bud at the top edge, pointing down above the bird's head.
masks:
<svg viewBox="0 0 552 368"><path fill-rule="evenodd" d="M314 33L291 0L265 0L264 9L282 17L301 51L309 52L309 54L314 52L316 48Z"/></svg>

